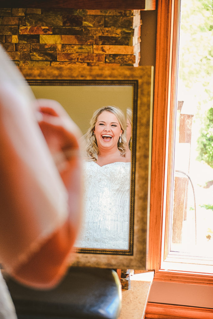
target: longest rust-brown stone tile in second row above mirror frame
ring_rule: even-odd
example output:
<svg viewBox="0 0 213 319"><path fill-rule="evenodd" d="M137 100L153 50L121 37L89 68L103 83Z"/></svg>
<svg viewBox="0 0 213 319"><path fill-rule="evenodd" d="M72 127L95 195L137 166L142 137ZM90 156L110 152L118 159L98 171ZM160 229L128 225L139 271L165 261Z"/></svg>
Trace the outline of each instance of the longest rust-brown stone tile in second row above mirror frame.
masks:
<svg viewBox="0 0 213 319"><path fill-rule="evenodd" d="M104 54L90 54L90 53L59 53L58 61L73 61L73 62L100 62L104 63Z"/></svg>

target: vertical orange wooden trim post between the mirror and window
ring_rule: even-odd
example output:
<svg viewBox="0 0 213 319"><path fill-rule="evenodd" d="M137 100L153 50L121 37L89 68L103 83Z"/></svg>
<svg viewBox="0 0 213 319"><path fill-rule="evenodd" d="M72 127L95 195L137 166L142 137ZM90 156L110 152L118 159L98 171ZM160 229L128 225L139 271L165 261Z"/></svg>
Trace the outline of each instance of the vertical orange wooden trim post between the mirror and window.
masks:
<svg viewBox="0 0 213 319"><path fill-rule="evenodd" d="M173 0L158 1L148 260L148 269L155 272L160 268L162 240L167 107L171 93L172 8Z"/></svg>

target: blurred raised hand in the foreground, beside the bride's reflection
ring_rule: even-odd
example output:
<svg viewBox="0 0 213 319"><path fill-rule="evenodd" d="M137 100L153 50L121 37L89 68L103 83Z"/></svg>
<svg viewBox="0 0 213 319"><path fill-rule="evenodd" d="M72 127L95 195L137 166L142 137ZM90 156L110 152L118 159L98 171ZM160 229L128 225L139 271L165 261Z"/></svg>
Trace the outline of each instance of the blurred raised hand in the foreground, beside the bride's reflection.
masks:
<svg viewBox="0 0 213 319"><path fill-rule="evenodd" d="M38 123L56 167L67 186L67 178L78 166L80 130L55 100L38 99Z"/></svg>

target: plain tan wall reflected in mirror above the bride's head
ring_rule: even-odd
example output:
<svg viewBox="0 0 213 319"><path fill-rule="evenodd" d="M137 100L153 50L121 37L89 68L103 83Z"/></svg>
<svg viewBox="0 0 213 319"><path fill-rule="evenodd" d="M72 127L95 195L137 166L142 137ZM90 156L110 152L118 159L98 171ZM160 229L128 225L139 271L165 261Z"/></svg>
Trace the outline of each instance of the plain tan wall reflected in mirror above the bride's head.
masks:
<svg viewBox="0 0 213 319"><path fill-rule="evenodd" d="M36 98L58 101L79 126L82 134L89 128L93 112L107 105L120 108L126 115L133 108L132 86L83 85L83 86L31 86Z"/></svg>

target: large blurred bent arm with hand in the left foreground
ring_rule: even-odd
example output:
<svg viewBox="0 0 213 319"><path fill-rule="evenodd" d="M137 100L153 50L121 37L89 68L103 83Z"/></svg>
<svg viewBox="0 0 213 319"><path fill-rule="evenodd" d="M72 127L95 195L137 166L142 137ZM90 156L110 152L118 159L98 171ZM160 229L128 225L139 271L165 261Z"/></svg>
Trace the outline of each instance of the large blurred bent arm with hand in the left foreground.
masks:
<svg viewBox="0 0 213 319"><path fill-rule="evenodd" d="M48 288L65 274L81 220L77 126L52 100L35 100L0 48L0 262Z"/></svg>

